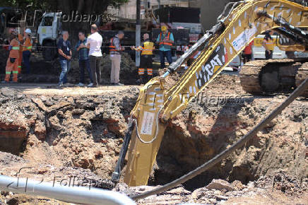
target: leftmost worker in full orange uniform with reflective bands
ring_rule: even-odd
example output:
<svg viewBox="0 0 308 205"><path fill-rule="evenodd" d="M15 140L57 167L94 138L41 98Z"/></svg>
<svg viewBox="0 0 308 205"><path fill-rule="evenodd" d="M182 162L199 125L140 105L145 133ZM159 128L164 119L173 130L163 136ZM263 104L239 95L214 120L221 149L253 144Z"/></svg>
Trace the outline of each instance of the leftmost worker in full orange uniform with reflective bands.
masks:
<svg viewBox="0 0 308 205"><path fill-rule="evenodd" d="M8 47L10 54L8 56L8 61L6 62L6 77L2 83L8 83L10 81L11 73L13 72L13 82L18 81L18 57L19 57L19 47L18 37L16 30L11 33L11 43Z"/></svg>

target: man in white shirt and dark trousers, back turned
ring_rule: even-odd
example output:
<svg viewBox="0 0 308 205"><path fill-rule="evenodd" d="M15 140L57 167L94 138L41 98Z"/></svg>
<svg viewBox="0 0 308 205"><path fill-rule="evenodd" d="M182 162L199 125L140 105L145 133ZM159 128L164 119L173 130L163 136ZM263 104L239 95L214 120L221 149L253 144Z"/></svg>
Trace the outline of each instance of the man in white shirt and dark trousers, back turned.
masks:
<svg viewBox="0 0 308 205"><path fill-rule="evenodd" d="M100 61L102 60L102 36L97 32L97 25L91 25L91 35L88 37L87 47L90 49L90 68L93 78L93 85L89 87L99 87L100 83Z"/></svg>

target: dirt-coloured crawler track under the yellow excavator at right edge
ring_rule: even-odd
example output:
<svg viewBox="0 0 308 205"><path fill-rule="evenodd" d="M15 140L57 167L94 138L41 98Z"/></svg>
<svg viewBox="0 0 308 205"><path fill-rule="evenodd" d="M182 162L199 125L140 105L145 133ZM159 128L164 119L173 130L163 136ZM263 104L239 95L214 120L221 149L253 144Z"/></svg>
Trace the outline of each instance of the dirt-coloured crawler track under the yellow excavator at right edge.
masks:
<svg viewBox="0 0 308 205"><path fill-rule="evenodd" d="M249 61L242 66L242 88L251 94L290 93L308 78L304 59L270 59ZM308 97L308 92L302 94Z"/></svg>

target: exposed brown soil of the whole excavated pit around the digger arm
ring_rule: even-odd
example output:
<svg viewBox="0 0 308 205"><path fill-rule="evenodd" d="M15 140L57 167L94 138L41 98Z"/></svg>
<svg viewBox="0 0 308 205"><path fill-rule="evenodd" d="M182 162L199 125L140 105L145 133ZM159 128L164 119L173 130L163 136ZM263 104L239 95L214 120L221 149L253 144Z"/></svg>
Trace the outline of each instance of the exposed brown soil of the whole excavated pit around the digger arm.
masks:
<svg viewBox="0 0 308 205"><path fill-rule="evenodd" d="M93 178L100 182L95 183L97 187L112 189L115 185L109 180L127 117L138 98L138 86L93 90L41 87L0 86L0 136L24 139L22 144L11 144L9 150L2 147L0 151L13 154L0 153L0 173L13 176L20 168L30 167L23 170L22 177L45 181L52 181L56 175ZM285 98L249 95L242 90L238 76L218 76L203 96L170 122L149 184L163 185L213 158L247 134ZM308 176L307 113L307 99L295 100L246 146L213 169L183 187L138 202L307 203L307 184L304 181L302 185L302 179ZM206 187L213 179L226 180L220 184L227 183L232 189ZM274 188L273 180L277 182ZM153 187L127 189L120 183L114 189L134 194ZM1 192L0 202L11 199L19 204L37 203L35 200L59 203Z"/></svg>

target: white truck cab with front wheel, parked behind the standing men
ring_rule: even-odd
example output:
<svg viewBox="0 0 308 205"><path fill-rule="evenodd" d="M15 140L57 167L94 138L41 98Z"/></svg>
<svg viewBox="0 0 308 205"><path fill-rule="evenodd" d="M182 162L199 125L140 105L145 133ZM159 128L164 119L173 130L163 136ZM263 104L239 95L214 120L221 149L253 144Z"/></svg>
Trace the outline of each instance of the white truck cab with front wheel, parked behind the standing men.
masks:
<svg viewBox="0 0 308 205"><path fill-rule="evenodd" d="M45 13L37 28L37 43L42 46L42 56L47 61L57 57L57 40L61 35L61 12Z"/></svg>

